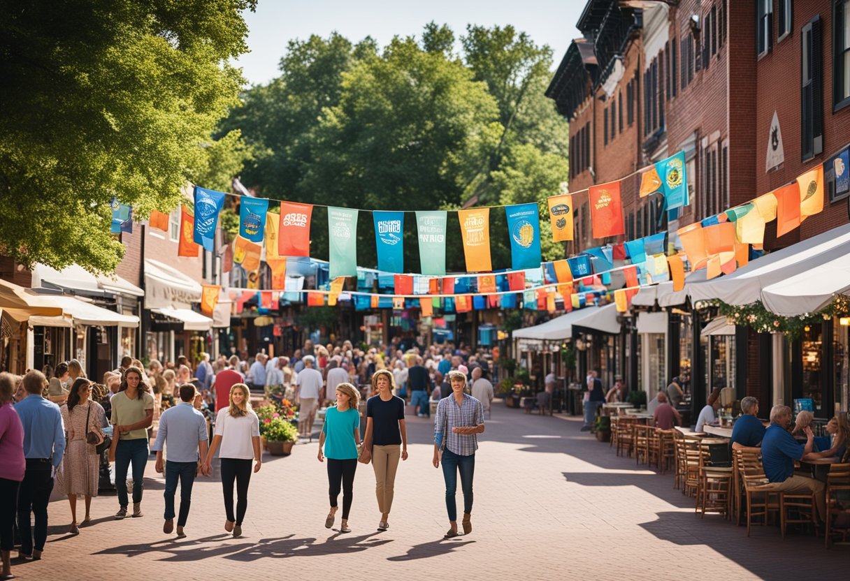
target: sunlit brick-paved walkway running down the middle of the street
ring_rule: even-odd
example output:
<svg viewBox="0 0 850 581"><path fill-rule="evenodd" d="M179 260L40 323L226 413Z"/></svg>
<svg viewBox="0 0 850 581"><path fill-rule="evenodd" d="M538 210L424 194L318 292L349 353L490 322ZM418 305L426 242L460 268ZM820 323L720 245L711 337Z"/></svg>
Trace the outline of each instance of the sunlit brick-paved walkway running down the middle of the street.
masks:
<svg viewBox="0 0 850 581"><path fill-rule="evenodd" d="M224 533L221 488L195 483L187 539L161 532L162 480L148 465L144 518L116 522L114 496L94 499L92 526L66 533L65 500L50 505L42 561L22 579L394 578L671 579L847 578L850 550L822 539L694 516L691 499L661 476L617 458L579 432L577 418L525 415L497 403L481 438L474 531L445 541L441 471L430 464L428 420L410 418L410 460L399 466L390 529L378 533L371 466L359 465L353 532L324 527L325 465L317 443L288 458L265 456L252 477L244 537ZM462 500L458 494L458 503ZM80 503L82 505L82 503ZM82 508L82 506L81 506ZM337 521L338 523L338 521ZM329 559L328 557L332 557ZM308 577L309 576L309 577Z"/></svg>

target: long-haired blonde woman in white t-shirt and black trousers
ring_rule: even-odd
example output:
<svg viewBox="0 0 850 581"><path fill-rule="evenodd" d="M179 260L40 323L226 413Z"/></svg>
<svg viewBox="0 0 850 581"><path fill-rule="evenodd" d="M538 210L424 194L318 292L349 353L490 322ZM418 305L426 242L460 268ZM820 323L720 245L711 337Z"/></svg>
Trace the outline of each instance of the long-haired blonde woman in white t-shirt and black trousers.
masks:
<svg viewBox="0 0 850 581"><path fill-rule="evenodd" d="M221 468L221 485L224 488L224 511L227 520L224 530L233 532L234 537L242 534L242 519L248 508L248 483L251 482L251 462L253 471L258 472L263 465L263 453L260 448L260 420L251 408L250 392L244 383L235 383L230 388L230 405L218 410L215 420L215 432L212 436L204 471L210 474L212 457L218 447L221 451L218 460ZM236 514L233 512L233 483L236 482Z"/></svg>

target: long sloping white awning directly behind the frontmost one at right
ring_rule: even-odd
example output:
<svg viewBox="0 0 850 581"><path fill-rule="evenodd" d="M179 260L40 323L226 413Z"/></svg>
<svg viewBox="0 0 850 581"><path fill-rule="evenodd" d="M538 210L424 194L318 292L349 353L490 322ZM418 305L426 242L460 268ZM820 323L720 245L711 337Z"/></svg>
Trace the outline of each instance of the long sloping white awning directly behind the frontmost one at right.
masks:
<svg viewBox="0 0 850 581"><path fill-rule="evenodd" d="M850 223L758 258L732 274L704 282L686 283L691 301L720 299L730 305L748 305L762 297L762 289L850 253ZM814 291L814 289L812 289Z"/></svg>

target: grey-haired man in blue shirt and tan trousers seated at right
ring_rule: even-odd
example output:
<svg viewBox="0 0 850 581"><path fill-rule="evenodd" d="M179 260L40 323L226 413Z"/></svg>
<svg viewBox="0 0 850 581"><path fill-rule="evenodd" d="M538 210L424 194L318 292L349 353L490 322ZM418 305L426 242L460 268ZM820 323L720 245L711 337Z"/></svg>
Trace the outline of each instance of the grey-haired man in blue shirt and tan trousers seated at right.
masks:
<svg viewBox="0 0 850 581"><path fill-rule="evenodd" d="M787 493L814 493L818 515L823 522L826 507L824 483L800 476L794 473L794 460L802 460L803 456L811 453L814 445L814 434L811 427L806 427L806 444L798 444L788 433L791 426L791 408L787 405L774 405L770 410L770 426L764 432L762 440L762 464L764 474L769 482L778 485L778 489Z"/></svg>

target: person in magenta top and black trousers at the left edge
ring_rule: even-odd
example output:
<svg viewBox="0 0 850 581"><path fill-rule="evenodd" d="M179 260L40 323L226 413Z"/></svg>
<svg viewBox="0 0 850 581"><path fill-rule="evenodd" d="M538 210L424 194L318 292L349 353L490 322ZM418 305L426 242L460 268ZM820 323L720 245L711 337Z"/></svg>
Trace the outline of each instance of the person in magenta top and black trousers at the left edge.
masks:
<svg viewBox="0 0 850 581"><path fill-rule="evenodd" d="M12 407L14 375L0 373L0 579L12 578L12 530L18 506L18 488L24 479L24 426Z"/></svg>

